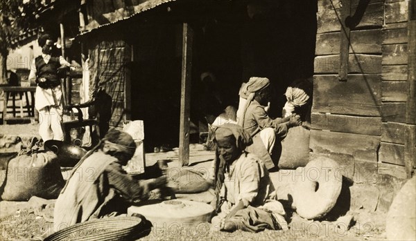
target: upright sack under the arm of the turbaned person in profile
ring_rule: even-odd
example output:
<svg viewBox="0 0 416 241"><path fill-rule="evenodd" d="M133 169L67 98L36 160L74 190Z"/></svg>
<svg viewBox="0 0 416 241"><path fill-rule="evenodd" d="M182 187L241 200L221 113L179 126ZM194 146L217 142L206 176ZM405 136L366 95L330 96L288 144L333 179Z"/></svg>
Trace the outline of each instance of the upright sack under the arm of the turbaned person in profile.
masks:
<svg viewBox="0 0 416 241"><path fill-rule="evenodd" d="M310 131L302 126L289 129L288 134L281 141L279 168L295 169L308 164L309 136Z"/></svg>

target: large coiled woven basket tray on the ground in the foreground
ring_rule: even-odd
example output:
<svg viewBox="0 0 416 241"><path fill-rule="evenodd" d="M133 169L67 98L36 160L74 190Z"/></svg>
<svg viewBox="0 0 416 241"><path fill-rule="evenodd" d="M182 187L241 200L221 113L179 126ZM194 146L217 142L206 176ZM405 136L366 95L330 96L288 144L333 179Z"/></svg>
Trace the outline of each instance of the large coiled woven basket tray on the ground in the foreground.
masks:
<svg viewBox="0 0 416 241"><path fill-rule="evenodd" d="M115 217L82 222L49 235L44 241L137 240L150 233L146 218Z"/></svg>

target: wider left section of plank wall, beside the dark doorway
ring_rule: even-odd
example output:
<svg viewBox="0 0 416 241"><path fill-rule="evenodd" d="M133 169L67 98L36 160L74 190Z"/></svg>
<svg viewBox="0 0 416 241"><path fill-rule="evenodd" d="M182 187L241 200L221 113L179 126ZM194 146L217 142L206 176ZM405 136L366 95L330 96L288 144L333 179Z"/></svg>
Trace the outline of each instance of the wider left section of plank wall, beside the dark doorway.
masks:
<svg viewBox="0 0 416 241"><path fill-rule="evenodd" d="M318 1L311 148L377 162L381 135L381 28L383 1L370 1L361 22L350 32L347 81L339 81L339 0ZM358 1L351 3L351 14Z"/></svg>

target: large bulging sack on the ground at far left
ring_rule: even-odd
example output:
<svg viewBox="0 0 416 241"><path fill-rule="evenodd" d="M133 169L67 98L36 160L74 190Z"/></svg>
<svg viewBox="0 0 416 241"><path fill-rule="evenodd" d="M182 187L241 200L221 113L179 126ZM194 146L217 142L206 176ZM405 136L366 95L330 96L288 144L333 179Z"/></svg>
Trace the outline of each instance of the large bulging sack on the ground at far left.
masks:
<svg viewBox="0 0 416 241"><path fill-rule="evenodd" d="M58 157L51 151L13 158L5 175L0 193L8 201L27 201L32 196L55 199L65 184Z"/></svg>

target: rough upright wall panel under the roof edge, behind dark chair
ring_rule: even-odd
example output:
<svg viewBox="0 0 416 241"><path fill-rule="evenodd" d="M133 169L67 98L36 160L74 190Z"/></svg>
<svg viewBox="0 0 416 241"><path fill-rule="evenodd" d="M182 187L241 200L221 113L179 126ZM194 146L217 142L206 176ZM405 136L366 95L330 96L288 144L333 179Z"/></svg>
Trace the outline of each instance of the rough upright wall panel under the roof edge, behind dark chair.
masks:
<svg viewBox="0 0 416 241"><path fill-rule="evenodd" d="M100 41L90 50L92 88L101 86L112 97L112 117L110 128L123 128L123 122L130 114L130 72L125 64L131 59L131 47L125 41ZM94 81L95 80L95 81Z"/></svg>

